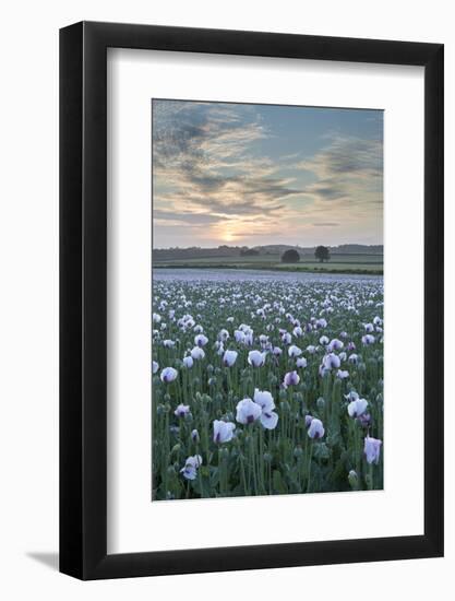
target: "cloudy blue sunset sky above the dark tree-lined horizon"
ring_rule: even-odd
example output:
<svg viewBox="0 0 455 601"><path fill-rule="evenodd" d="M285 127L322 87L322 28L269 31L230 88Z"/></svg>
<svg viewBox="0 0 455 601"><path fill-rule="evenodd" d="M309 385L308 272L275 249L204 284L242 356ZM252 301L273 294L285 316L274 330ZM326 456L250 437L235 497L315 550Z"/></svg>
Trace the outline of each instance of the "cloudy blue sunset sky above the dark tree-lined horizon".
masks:
<svg viewBox="0 0 455 601"><path fill-rule="evenodd" d="M152 102L154 248L383 243L383 111Z"/></svg>

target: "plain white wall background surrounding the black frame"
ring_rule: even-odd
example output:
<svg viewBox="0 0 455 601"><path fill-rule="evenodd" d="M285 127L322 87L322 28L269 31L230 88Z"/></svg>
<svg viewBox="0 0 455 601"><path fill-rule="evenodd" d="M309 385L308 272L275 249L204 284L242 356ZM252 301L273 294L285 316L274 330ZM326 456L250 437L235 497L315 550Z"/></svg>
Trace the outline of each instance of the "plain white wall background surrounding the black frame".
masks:
<svg viewBox="0 0 455 601"><path fill-rule="evenodd" d="M251 594L414 600L455 589L455 20L450 0L44 0L2 10L0 149L0 596L223 601ZM80 20L262 30L445 44L446 557L82 584L58 544L58 28ZM411 250L410 250L411 252ZM407 259L409 260L409 259ZM411 433L406 433L411 441ZM411 460L411 456L410 456ZM346 516L351 519L351 516ZM309 516L302 516L309 519ZM372 519L374 517L372 516ZM197 535L197 528L194 528Z"/></svg>

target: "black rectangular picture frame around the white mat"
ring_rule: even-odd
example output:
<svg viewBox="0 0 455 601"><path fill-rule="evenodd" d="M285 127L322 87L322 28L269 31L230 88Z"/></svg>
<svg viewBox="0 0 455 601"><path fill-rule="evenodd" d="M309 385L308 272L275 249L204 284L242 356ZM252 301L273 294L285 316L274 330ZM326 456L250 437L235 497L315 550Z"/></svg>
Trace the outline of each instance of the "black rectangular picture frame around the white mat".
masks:
<svg viewBox="0 0 455 601"><path fill-rule="evenodd" d="M424 68L422 535L107 554L107 48ZM88 580L443 555L443 123L441 44L93 22L60 31L62 573Z"/></svg>

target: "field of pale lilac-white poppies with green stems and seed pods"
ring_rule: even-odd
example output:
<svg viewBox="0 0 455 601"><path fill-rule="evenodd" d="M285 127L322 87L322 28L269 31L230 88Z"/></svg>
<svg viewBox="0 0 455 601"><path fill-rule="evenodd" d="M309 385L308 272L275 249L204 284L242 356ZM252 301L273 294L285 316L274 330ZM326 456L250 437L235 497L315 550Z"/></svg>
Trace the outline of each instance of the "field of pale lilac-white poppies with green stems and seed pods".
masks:
<svg viewBox="0 0 455 601"><path fill-rule="evenodd" d="M383 487L383 280L287 275L154 275L154 500Z"/></svg>

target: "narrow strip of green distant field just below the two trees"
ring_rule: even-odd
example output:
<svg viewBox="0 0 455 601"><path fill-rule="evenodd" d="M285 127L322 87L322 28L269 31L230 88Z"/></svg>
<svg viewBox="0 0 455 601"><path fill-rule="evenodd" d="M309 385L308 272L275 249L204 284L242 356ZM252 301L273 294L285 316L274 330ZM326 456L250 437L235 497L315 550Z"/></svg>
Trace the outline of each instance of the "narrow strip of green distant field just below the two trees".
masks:
<svg viewBox="0 0 455 601"><path fill-rule="evenodd" d="M360 273L382 273L382 255L333 255L324 263L311 255L303 255L298 263L282 263L279 255L256 257L207 257L196 259L172 259L153 262L156 268L230 268L230 269L276 269L286 271L342 271Z"/></svg>

